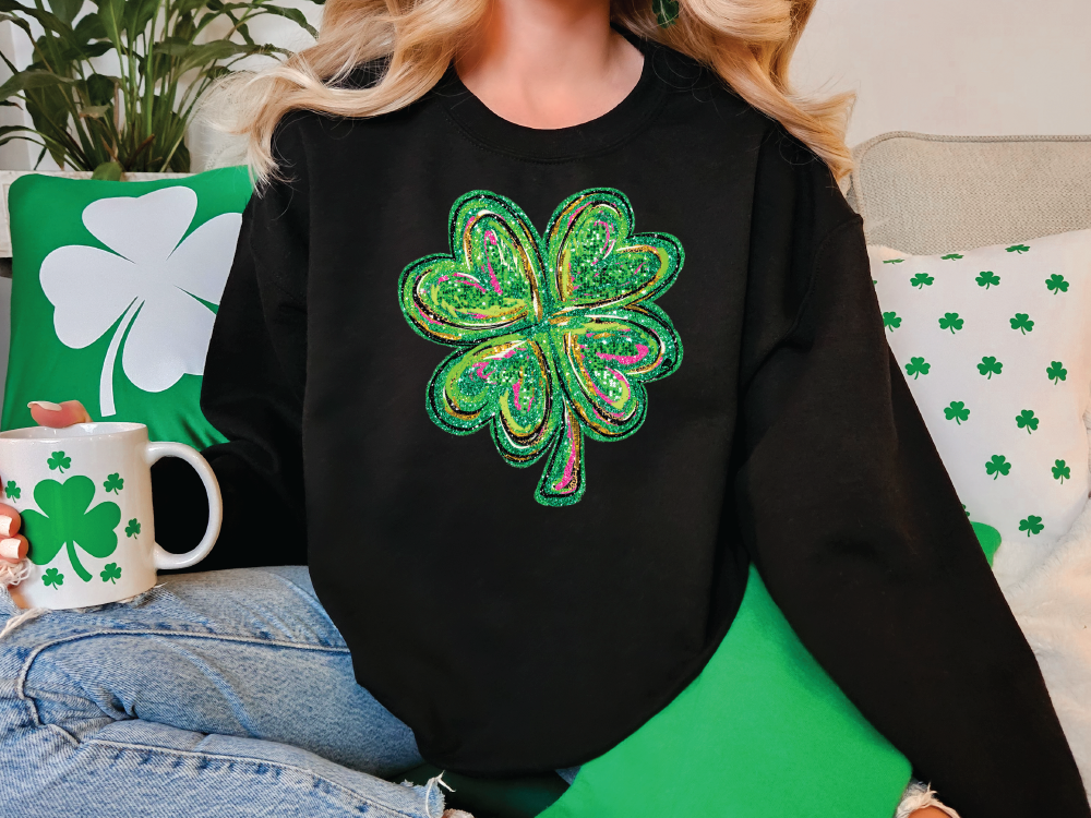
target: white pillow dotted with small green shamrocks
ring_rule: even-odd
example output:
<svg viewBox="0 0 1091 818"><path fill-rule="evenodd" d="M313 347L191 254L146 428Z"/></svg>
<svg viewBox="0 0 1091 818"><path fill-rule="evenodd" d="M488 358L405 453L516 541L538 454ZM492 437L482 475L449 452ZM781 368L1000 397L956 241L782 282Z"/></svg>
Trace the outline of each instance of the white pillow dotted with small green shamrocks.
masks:
<svg viewBox="0 0 1091 818"><path fill-rule="evenodd" d="M943 255L868 248L887 339L997 570L1063 537L1091 485L1091 230Z"/></svg>

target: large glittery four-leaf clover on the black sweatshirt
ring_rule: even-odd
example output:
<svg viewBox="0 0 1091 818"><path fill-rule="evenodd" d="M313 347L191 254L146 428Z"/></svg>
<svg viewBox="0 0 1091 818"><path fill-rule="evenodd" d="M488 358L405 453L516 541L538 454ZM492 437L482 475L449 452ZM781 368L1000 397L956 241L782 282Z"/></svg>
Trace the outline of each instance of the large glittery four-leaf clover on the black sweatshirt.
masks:
<svg viewBox="0 0 1091 818"><path fill-rule="evenodd" d="M682 245L633 227L628 199L609 188L570 196L542 236L509 199L472 191L451 208L451 252L401 273L406 321L455 347L428 384L432 421L458 435L490 428L513 466L546 457L543 505L579 502L584 435L636 432L644 385L682 362L655 303L678 277Z"/></svg>

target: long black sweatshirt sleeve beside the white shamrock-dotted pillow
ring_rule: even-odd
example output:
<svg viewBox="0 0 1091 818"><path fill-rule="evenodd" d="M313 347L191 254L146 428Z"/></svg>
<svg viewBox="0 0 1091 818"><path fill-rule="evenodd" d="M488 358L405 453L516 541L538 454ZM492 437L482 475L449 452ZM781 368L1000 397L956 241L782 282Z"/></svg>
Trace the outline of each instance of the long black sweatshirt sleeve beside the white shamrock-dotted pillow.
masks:
<svg viewBox="0 0 1091 818"><path fill-rule="evenodd" d="M784 136L755 194L735 492L803 643L963 818L1091 815L884 336L861 221Z"/></svg>

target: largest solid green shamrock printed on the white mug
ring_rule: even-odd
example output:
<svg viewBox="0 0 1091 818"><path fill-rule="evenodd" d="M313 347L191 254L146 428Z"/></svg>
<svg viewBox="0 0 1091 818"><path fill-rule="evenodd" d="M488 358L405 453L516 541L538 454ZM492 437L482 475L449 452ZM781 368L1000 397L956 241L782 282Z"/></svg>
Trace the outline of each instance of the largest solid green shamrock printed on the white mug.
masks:
<svg viewBox="0 0 1091 818"><path fill-rule="evenodd" d="M80 562L75 546L99 560L109 556L118 546L113 529L121 521L117 503L99 503L87 510L94 497L95 483L82 474L63 483L43 480L34 486L34 502L41 510L23 512L23 522L26 539L31 541L29 557L35 565L51 562L63 546L76 576L84 582L91 581L91 574Z"/></svg>

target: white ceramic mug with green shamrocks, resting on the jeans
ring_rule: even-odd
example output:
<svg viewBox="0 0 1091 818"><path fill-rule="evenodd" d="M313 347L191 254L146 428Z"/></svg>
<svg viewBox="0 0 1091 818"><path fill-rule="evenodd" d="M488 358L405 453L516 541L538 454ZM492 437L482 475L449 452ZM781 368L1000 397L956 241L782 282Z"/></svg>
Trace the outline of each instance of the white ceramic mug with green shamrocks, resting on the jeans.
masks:
<svg viewBox="0 0 1091 818"><path fill-rule="evenodd" d="M190 464L208 494L204 538L184 554L155 542L152 464L161 457ZM0 482L31 543L31 574L10 589L20 608L84 608L143 593L157 569L204 560L224 516L207 461L181 443L148 443L142 423L0 433Z"/></svg>

